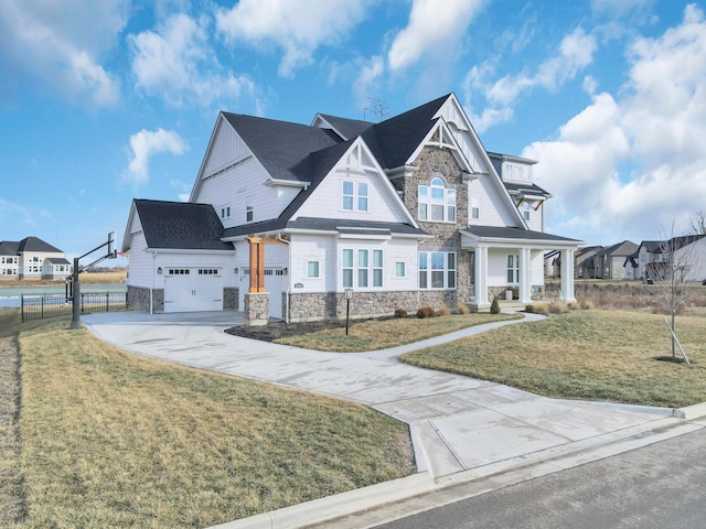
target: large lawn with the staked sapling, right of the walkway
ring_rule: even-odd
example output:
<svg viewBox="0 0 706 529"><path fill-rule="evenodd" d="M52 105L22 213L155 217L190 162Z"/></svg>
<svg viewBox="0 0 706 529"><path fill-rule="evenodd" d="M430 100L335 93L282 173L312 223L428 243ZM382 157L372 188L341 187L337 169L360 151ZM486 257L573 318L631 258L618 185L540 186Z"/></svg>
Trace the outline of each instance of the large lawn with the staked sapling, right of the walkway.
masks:
<svg viewBox="0 0 706 529"><path fill-rule="evenodd" d="M691 366L655 359L672 353L663 316L620 311L555 314L403 359L547 397L678 408L706 401L706 319L680 316L676 332Z"/></svg>

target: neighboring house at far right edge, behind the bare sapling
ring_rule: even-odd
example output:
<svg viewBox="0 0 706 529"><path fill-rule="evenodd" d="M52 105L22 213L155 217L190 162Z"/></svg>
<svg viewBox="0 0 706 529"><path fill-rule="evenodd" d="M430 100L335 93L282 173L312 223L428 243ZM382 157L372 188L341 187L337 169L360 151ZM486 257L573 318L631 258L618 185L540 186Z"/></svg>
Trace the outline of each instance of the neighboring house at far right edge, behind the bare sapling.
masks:
<svg viewBox="0 0 706 529"><path fill-rule="evenodd" d="M668 240L643 240L638 253L638 279L663 277L662 267L674 259L686 281L706 280L706 236L686 235Z"/></svg>

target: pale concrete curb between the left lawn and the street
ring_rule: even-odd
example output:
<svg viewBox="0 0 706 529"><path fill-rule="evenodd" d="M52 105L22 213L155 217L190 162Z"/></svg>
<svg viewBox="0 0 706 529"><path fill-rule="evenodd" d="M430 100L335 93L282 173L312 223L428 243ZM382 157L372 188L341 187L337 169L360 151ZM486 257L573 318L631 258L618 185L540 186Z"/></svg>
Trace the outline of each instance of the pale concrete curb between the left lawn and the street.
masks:
<svg viewBox="0 0 706 529"><path fill-rule="evenodd" d="M325 498L312 499L261 515L228 521L208 529L297 529L353 515L371 507L392 504L436 490L429 472L378 483Z"/></svg>

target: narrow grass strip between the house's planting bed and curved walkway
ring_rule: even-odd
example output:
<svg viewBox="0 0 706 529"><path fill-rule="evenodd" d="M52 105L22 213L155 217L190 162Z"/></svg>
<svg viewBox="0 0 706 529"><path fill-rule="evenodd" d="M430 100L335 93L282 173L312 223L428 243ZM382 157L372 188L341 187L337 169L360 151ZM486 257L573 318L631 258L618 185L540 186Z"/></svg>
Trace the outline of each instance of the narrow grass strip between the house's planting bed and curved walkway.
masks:
<svg viewBox="0 0 706 529"><path fill-rule="evenodd" d="M516 314L449 314L428 319L371 320L360 323L353 322L347 336L345 327L343 327L289 336L275 342L295 347L336 353L377 350L411 344L474 325L520 317L522 316Z"/></svg>

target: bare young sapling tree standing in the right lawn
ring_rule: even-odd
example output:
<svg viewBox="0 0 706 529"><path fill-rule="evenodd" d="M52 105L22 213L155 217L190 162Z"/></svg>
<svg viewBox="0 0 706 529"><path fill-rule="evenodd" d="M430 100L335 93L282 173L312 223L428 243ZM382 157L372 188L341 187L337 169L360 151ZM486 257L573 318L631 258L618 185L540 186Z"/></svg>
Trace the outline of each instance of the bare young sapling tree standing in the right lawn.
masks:
<svg viewBox="0 0 706 529"><path fill-rule="evenodd" d="M674 223L667 234L662 234L659 245L659 256L651 264L650 277L654 279L654 291L657 292L664 307L671 315L672 330L672 358L676 359L676 314L685 306L694 288L689 285L693 278L689 270L693 270L697 253L695 242L703 235L674 235Z"/></svg>

